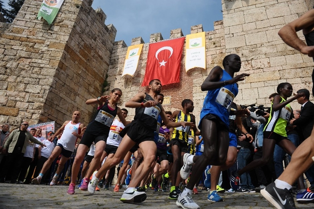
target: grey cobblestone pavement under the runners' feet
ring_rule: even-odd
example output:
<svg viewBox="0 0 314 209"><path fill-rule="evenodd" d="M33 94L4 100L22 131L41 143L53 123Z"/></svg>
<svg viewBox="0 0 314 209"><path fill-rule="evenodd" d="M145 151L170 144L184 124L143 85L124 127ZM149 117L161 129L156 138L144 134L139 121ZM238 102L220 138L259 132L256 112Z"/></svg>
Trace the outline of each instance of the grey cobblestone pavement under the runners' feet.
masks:
<svg viewBox="0 0 314 209"><path fill-rule="evenodd" d="M168 199L168 192L147 191L147 199L143 203L126 204L119 199L125 189L120 192L113 192L114 187L109 190L100 189L94 195L89 195L87 191L75 189L75 195L68 195L68 186L57 185L19 185L0 184L0 208L18 209L19 207L34 209L67 209L67 208L154 208L168 209L175 208L176 202ZM274 208L266 201L260 193L223 193L223 202L207 201L207 191L200 191L198 195L193 195L193 200L201 208L237 208L237 209L266 209ZM296 204L297 208L314 208L314 203Z"/></svg>

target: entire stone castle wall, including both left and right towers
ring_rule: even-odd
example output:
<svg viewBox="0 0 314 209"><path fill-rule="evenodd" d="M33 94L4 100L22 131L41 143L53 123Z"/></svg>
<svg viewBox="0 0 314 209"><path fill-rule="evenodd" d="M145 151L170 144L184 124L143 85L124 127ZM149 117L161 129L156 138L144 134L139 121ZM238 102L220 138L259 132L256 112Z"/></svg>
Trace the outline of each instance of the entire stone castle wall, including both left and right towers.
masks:
<svg viewBox="0 0 314 209"><path fill-rule="evenodd" d="M79 109L87 124L95 109L85 104L87 99L118 87L125 103L147 91L141 83L149 43L163 40L160 33L151 34L149 43L141 37L132 39L132 45L144 43L138 69L134 77L121 77L127 45L114 41L116 29L104 24L106 14L91 8L92 0L65 0L51 26L35 19L41 2L25 0L13 23L0 25L0 123L17 126L29 120L61 125ZM181 101L191 98L199 116L206 96L200 85L230 53L243 61L239 73L251 73L239 82L239 104L267 105L280 82L290 82L295 90L311 89L313 60L288 47L277 33L313 4L314 0L222 0L223 21L214 22L214 30L206 32L206 69L185 72L184 47L181 82L162 90L165 110L181 109ZM191 27L191 34L202 31L202 25ZM301 32L298 35L303 37ZM169 38L181 36L181 29L175 29ZM107 73L109 85L103 92ZM292 107L299 105L293 102ZM130 109L128 119L134 114Z"/></svg>

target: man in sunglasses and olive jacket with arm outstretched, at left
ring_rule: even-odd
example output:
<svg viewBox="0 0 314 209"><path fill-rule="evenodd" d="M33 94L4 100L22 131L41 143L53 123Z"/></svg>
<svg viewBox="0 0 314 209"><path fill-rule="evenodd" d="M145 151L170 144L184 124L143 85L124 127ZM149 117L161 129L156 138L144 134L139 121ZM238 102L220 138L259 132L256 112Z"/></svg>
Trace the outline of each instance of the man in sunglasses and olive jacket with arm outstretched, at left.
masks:
<svg viewBox="0 0 314 209"><path fill-rule="evenodd" d="M21 123L21 127L12 131L12 133L8 136L8 139L2 148L3 153L8 150L8 157L4 163L4 168L0 171L0 182L4 182L5 178L6 181L10 181L10 183L16 183L14 173L15 170L20 167L19 163L22 162L22 158L29 141L41 146L46 146L39 140L35 139L34 136L27 131L28 126L29 123L27 121L23 121Z"/></svg>

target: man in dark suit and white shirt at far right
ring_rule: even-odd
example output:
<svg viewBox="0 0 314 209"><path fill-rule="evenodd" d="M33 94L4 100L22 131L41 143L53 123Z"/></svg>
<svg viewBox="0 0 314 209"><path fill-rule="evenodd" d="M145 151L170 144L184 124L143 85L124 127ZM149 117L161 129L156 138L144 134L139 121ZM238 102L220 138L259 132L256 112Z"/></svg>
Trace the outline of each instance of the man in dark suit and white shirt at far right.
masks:
<svg viewBox="0 0 314 209"><path fill-rule="evenodd" d="M301 106L300 117L298 119L290 120L290 123L297 127L300 143L306 140L312 132L314 125L314 104L309 101L310 91L307 89L300 89L297 93L304 93L305 96L297 99ZM311 187L310 190L314 190L314 166L312 165L306 172L305 175L309 180Z"/></svg>

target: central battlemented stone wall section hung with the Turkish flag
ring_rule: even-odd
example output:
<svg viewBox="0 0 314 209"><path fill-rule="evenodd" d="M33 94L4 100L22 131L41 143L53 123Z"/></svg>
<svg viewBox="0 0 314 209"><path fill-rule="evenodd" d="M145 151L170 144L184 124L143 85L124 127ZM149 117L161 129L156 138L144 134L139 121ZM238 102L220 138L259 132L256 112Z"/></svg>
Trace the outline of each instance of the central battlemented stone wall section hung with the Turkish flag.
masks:
<svg viewBox="0 0 314 209"><path fill-rule="evenodd" d="M191 27L191 34L203 32L202 25L195 25ZM171 30L170 38L176 38L183 36L181 29ZM207 77L209 70L216 65L221 65L223 58L225 57L225 33L223 21L214 22L214 30L207 31L205 33L206 38L206 66L207 69L191 69L188 72L185 70L185 46L182 51L181 68L180 68L180 83L170 84L162 87L161 93L165 95L164 108L166 111L175 111L182 109L181 102L183 99L189 98L194 101L194 114L199 116L201 107L203 106L203 99L206 96L206 92L202 92L200 85ZM150 35L149 43L163 40L160 33ZM144 43L141 37L133 38L131 45ZM135 96L138 92L147 91L146 87L141 87L144 79L147 54L149 49L149 43L145 43L143 46L138 68L134 74L134 77L129 75L123 76L122 69L124 65L125 56L127 53L127 45L124 41L116 41L113 47L110 66L108 70L108 82L110 83L110 90L113 88L121 88L122 99L127 102L130 98ZM109 94L110 91L105 93ZM122 105L123 106L123 105ZM133 118L135 109L129 109L129 119ZM197 117L198 119L199 117Z"/></svg>

